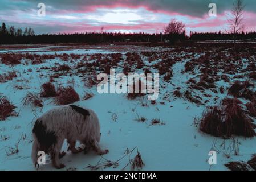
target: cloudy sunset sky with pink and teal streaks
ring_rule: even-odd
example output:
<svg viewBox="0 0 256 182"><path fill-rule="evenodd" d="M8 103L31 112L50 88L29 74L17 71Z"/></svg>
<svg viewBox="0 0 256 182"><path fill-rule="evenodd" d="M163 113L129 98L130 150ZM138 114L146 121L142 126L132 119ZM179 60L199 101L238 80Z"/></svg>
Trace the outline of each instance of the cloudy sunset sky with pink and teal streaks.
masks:
<svg viewBox="0 0 256 182"><path fill-rule="evenodd" d="M216 3L217 17L209 17L209 3ZM246 30L256 30L256 2L245 0ZM37 15L38 3L46 16ZM0 0L0 22L7 26L32 27L36 34L85 31L162 32L170 19L190 31L225 31L233 0Z"/></svg>

